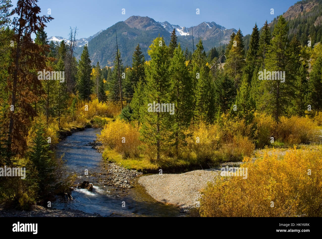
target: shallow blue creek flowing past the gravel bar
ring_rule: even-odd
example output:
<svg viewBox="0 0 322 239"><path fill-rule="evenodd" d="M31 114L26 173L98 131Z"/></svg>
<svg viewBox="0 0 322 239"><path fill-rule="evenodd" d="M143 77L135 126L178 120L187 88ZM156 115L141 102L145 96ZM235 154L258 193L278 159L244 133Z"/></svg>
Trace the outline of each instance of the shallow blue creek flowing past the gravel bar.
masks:
<svg viewBox="0 0 322 239"><path fill-rule="evenodd" d="M134 188L125 191L104 186L104 182L99 180L99 173L103 172L102 155L88 145L99 133L99 129L86 128L66 137L57 145L56 155L58 157L64 154L67 173L77 174L76 183L89 181L93 184L93 190L90 192L87 189L75 189L71 192L74 200L57 199L52 202L52 207L77 209L101 216L180 216L177 207L156 202L137 183ZM85 169L88 170L88 175L84 175Z"/></svg>

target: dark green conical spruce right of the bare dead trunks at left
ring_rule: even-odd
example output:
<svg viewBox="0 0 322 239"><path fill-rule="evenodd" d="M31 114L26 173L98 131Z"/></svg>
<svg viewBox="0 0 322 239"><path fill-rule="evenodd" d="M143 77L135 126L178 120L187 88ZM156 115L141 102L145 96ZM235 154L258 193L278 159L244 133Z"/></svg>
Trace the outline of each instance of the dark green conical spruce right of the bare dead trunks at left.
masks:
<svg viewBox="0 0 322 239"><path fill-rule="evenodd" d="M88 49L85 45L84 50L81 54L81 59L78 63L77 72L77 89L81 99L84 102L85 100L88 100L88 102L90 102L90 94L92 92L93 87L93 82L90 80L90 74L92 72L92 67L90 63L90 55L88 54Z"/></svg>

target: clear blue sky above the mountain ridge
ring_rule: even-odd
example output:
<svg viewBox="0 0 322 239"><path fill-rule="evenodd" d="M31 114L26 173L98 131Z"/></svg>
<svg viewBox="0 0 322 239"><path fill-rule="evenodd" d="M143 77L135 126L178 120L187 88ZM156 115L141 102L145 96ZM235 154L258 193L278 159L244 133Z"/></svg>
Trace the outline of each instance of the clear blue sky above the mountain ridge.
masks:
<svg viewBox="0 0 322 239"><path fill-rule="evenodd" d="M286 12L297 0L40 0L37 4L42 14L51 9L54 18L47 24L48 37L67 38L69 27L78 28L76 38L89 37L99 30L105 30L116 22L125 21L132 15L148 16L157 22L190 27L201 22L216 22L227 29L242 30L243 35L251 33L257 22L263 23ZM12 0L15 6L16 0ZM121 9L125 8L125 15ZM196 8L200 14L196 14ZM274 8L274 15L270 9Z"/></svg>

